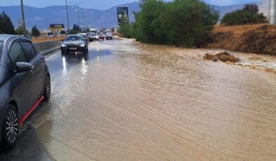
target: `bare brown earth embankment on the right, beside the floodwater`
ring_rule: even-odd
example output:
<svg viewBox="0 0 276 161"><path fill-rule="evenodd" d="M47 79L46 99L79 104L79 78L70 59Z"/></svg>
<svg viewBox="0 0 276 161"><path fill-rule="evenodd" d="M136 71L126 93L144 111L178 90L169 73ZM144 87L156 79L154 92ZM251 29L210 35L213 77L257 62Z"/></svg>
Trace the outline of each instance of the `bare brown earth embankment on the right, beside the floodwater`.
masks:
<svg viewBox="0 0 276 161"><path fill-rule="evenodd" d="M221 48L237 52L276 55L276 26L216 26L200 48Z"/></svg>

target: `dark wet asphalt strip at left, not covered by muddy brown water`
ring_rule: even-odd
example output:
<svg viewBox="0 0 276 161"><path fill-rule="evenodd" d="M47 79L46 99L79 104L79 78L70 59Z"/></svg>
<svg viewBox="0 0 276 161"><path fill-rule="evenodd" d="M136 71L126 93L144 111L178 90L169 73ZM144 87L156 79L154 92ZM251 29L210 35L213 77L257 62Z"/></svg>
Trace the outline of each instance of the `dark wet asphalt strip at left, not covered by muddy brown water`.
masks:
<svg viewBox="0 0 276 161"><path fill-rule="evenodd" d="M115 41L115 40L113 40ZM90 43L90 47L99 42ZM103 43L100 41L100 43ZM84 62L97 62L97 59L102 56L111 55L109 50L101 50L90 48L88 54L82 53L71 53L70 55L61 55L60 51L46 55L46 63L50 71L51 81L52 81L52 92L55 92L55 87L59 85L64 85L64 80L60 80L61 73L67 73L71 71L71 68L83 64ZM55 85L53 85L55 84ZM71 92L71 91L67 91ZM55 94L52 93L52 97ZM51 98L53 100L53 98ZM60 98L59 98L60 99ZM57 102L59 101L58 99ZM63 100L61 100L63 102ZM53 103L55 104L55 103ZM41 140L37 136L36 128L39 124L44 123L47 120L48 115L50 115L52 103L41 102L35 111L25 120L25 123L20 127L20 137L18 143L13 148L12 151L3 151L0 149L0 161L5 160L55 160L51 158L46 149L41 144ZM55 105L54 105L55 106ZM55 111L55 109L54 109ZM46 119L46 120L44 120ZM50 125L50 124L49 124ZM43 131L47 132L47 131Z"/></svg>

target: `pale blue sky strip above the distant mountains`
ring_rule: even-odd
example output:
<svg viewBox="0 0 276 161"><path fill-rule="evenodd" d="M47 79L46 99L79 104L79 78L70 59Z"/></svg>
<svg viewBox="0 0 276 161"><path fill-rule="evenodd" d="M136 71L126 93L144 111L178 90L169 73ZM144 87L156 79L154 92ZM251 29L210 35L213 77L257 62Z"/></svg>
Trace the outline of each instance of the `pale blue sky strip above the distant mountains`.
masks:
<svg viewBox="0 0 276 161"><path fill-rule="evenodd" d="M23 0L25 5L34 7L46 7L55 5L64 5L65 0ZM99 10L104 10L111 8L112 6L120 5L123 3L129 3L137 0L67 0L68 2L79 3L85 1L81 4L82 8L95 8ZM167 0L170 1L170 0ZM258 0L205 0L207 3L212 3L219 6L229 6L237 3L247 3ZM268 0L269 1L269 0ZM20 5L20 0L0 0L0 6L16 6ZM70 5L70 3L69 3Z"/></svg>

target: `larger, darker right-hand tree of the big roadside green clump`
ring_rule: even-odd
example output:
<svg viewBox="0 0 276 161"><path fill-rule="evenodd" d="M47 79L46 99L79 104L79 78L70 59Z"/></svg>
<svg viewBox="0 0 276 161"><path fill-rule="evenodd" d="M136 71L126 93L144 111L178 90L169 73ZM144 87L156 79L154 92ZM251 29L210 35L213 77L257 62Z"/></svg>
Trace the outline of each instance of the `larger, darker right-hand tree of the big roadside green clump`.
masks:
<svg viewBox="0 0 276 161"><path fill-rule="evenodd" d="M174 0L161 18L168 43L198 46L219 20L219 12L203 1Z"/></svg>

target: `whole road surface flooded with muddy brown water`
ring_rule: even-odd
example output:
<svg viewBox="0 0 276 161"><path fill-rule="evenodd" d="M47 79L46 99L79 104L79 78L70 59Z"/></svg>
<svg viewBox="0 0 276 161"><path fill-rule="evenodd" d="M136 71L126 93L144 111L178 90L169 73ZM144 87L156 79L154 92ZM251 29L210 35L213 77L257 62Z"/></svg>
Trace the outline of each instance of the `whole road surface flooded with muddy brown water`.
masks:
<svg viewBox="0 0 276 161"><path fill-rule="evenodd" d="M4 160L276 160L276 75L131 40L47 59L52 97Z"/></svg>

